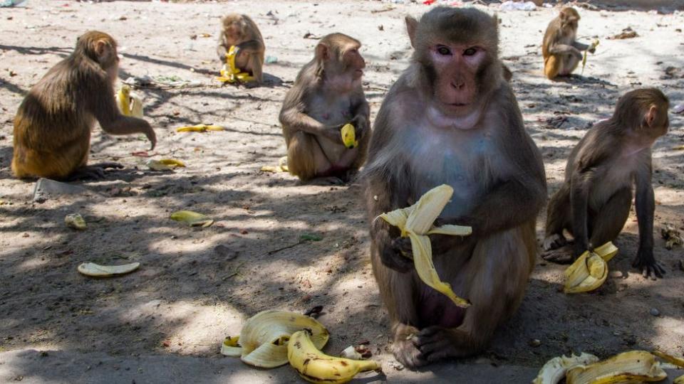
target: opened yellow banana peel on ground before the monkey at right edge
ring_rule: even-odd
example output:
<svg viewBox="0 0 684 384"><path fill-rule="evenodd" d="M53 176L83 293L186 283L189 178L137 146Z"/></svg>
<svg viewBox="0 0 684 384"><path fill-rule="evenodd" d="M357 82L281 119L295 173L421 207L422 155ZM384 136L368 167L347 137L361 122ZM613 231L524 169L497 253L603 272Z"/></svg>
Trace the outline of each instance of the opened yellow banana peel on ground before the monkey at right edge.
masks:
<svg viewBox="0 0 684 384"><path fill-rule="evenodd" d="M594 252L586 251L575 260L565 272L566 294L589 292L606 281L608 277L608 261L618 253L618 248L612 242L606 242L601 247L594 248Z"/></svg>

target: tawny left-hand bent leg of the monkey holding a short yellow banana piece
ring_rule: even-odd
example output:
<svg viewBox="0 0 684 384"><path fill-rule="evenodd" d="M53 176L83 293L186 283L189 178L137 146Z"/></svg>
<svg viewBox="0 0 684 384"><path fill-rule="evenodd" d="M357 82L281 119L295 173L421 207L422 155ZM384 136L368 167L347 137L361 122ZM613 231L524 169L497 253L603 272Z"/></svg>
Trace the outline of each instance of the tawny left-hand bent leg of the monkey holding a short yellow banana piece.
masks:
<svg viewBox="0 0 684 384"><path fill-rule="evenodd" d="M332 164L313 134L297 131L287 145L287 166L291 174L307 181L328 171Z"/></svg>

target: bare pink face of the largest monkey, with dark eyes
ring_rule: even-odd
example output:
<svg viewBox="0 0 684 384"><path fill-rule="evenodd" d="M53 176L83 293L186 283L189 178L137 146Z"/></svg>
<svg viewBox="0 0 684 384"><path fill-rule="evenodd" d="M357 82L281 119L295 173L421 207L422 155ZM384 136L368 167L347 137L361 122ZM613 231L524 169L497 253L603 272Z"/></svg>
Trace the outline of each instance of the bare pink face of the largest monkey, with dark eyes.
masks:
<svg viewBox="0 0 684 384"><path fill-rule="evenodd" d="M437 74L435 99L438 110L452 117L466 117L477 106L475 75L487 52L480 46L435 44L430 58Z"/></svg>

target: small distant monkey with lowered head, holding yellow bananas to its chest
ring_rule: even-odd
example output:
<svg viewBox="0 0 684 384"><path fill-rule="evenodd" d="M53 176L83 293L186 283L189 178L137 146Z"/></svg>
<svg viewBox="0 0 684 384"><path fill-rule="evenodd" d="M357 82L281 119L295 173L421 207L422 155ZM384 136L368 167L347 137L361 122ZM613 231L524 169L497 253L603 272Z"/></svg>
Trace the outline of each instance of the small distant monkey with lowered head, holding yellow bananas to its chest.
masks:
<svg viewBox="0 0 684 384"><path fill-rule="evenodd" d="M229 14L221 19L219 46L216 53L221 63L226 63L226 53L235 46L235 66L250 75L254 80L262 82L264 75L264 38L261 38L259 27L247 15Z"/></svg>

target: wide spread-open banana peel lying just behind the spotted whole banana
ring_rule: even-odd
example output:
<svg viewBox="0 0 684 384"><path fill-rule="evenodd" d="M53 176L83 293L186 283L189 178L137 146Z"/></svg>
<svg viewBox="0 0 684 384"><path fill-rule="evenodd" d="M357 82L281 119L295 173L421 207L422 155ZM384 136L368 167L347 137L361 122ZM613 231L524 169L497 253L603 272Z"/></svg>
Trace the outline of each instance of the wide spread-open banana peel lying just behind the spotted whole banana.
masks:
<svg viewBox="0 0 684 384"><path fill-rule="evenodd" d="M323 348L328 342L328 330L313 317L268 310L259 312L244 323L239 336L242 347L226 345L224 341L221 351L229 353L227 356L240 356L242 361L252 366L275 368L287 363L288 341L292 334L302 329L311 331L311 343L316 348Z"/></svg>

